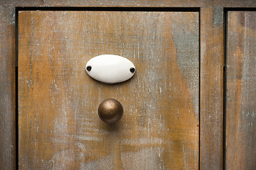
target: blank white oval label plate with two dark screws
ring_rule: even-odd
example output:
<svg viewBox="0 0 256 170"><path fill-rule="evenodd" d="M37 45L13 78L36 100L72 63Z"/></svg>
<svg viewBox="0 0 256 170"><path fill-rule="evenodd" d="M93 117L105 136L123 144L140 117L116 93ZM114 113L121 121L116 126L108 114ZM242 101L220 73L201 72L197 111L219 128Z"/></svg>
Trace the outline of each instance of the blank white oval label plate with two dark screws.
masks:
<svg viewBox="0 0 256 170"><path fill-rule="evenodd" d="M85 70L93 79L107 84L127 81L135 73L134 64L119 55L93 57L87 62Z"/></svg>

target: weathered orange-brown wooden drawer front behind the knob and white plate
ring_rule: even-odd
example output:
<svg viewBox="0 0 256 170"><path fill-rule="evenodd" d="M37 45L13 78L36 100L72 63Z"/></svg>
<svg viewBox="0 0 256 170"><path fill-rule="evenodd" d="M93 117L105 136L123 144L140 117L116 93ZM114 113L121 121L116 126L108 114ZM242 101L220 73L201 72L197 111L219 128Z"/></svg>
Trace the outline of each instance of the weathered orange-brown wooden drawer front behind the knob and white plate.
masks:
<svg viewBox="0 0 256 170"><path fill-rule="evenodd" d="M198 169L198 12L21 11L20 169ZM114 54L137 72L102 84L91 57ZM116 98L124 115L103 123Z"/></svg>

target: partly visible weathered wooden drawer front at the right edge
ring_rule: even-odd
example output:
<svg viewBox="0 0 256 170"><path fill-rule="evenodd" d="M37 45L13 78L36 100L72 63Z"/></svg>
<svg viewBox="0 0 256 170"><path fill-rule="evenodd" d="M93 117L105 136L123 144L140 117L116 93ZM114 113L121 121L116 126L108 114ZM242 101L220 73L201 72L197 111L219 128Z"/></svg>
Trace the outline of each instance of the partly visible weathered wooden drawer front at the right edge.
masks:
<svg viewBox="0 0 256 170"><path fill-rule="evenodd" d="M228 13L226 169L256 169L255 18Z"/></svg>

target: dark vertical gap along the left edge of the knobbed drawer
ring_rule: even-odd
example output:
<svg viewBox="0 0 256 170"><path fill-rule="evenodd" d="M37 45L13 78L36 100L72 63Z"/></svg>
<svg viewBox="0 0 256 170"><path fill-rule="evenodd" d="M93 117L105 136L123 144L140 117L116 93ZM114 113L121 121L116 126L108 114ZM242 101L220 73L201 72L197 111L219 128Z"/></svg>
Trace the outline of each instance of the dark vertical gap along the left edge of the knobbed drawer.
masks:
<svg viewBox="0 0 256 170"><path fill-rule="evenodd" d="M18 8L15 8L15 164L18 169Z"/></svg>

